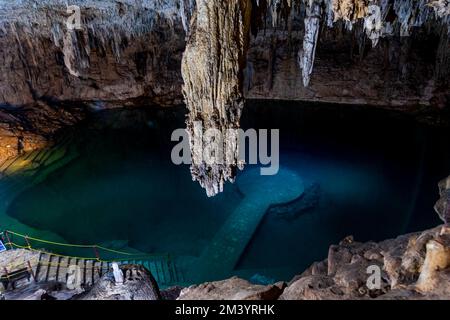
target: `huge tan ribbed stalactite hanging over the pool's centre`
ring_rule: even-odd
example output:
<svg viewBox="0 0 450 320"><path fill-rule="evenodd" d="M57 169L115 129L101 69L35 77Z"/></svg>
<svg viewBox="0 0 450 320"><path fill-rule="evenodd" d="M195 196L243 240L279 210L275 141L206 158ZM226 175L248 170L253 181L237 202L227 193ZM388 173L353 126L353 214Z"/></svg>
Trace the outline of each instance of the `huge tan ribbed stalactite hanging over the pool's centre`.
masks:
<svg viewBox="0 0 450 320"><path fill-rule="evenodd" d="M243 70L249 43L251 0L197 0L183 56L183 94L189 109L187 130L192 153L192 178L208 196L234 181L238 167L237 137L222 141L226 163L207 163L198 137L208 129L238 129L243 98ZM197 138L196 138L197 137ZM234 140L234 143L232 142Z"/></svg>

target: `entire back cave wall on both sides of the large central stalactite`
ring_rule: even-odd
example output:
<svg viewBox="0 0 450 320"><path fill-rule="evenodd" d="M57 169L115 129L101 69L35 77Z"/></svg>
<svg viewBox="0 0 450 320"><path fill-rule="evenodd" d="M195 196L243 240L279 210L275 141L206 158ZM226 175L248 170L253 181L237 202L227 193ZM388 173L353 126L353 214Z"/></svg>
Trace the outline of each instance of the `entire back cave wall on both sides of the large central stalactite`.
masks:
<svg viewBox="0 0 450 320"><path fill-rule="evenodd" d="M181 58L194 0L71 4L80 7L80 28L67 27L73 13L63 0L0 1L0 104L183 102ZM448 103L448 1L252 4L247 98ZM371 19L377 12L381 22Z"/></svg>

